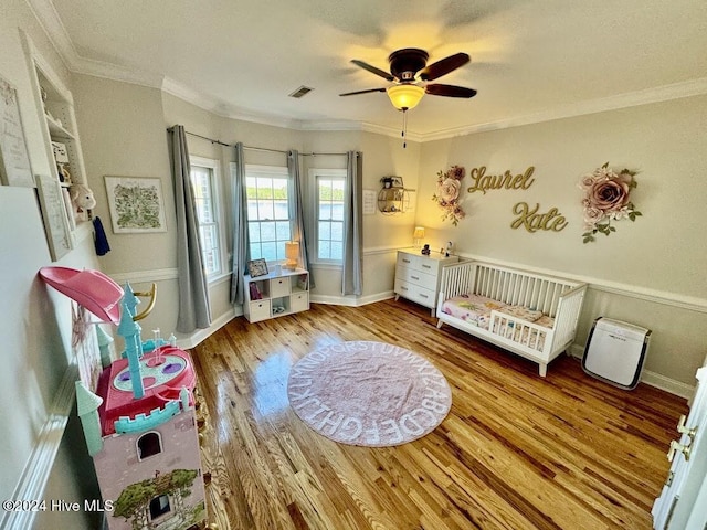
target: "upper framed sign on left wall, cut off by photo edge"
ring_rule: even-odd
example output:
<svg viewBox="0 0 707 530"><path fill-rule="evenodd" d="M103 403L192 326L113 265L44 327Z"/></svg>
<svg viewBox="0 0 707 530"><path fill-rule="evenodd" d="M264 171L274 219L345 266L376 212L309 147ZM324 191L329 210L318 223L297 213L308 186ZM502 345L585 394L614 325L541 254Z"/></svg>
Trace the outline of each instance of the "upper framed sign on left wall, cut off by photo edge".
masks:
<svg viewBox="0 0 707 530"><path fill-rule="evenodd" d="M18 91L0 77L0 181L4 186L34 188L18 104Z"/></svg>

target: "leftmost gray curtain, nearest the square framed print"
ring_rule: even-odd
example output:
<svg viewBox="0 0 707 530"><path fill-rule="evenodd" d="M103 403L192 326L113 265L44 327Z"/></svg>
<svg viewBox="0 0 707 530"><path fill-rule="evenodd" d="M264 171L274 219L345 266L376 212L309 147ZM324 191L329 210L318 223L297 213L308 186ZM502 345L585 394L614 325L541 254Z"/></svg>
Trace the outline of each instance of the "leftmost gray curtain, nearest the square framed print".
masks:
<svg viewBox="0 0 707 530"><path fill-rule="evenodd" d="M177 331L191 333L211 326L209 284L204 273L199 219L191 188L191 168L184 127L176 125L172 134L172 177L177 212L177 269L179 274L179 315Z"/></svg>

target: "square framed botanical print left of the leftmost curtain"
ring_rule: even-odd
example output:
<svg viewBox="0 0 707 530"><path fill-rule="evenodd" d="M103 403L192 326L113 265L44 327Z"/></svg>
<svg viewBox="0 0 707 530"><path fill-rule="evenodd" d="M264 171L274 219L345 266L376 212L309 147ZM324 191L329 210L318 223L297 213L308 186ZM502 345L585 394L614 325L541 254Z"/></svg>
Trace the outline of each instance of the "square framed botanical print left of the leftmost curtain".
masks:
<svg viewBox="0 0 707 530"><path fill-rule="evenodd" d="M151 177L105 177L115 234L167 232L162 182Z"/></svg>

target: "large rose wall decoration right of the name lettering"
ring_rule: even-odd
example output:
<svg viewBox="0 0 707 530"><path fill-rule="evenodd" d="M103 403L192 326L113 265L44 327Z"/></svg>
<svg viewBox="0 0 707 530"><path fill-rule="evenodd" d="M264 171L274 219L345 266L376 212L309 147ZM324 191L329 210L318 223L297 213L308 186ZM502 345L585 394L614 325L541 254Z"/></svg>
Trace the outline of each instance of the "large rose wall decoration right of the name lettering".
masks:
<svg viewBox="0 0 707 530"><path fill-rule="evenodd" d="M582 205L587 230L582 234L584 243L595 241L594 235L598 233L609 235L615 232L612 221L622 219L635 221L641 215L630 197L631 190L637 186L635 174L635 171L629 169L615 172L606 162L582 177L580 188L584 190Z"/></svg>

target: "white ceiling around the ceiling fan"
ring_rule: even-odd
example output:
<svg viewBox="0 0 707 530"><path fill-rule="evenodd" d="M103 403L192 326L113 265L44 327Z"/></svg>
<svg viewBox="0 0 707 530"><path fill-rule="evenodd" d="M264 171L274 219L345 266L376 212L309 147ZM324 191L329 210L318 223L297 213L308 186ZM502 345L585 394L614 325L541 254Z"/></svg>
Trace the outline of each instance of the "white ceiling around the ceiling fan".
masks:
<svg viewBox="0 0 707 530"><path fill-rule="evenodd" d="M397 131L390 52L466 66L408 116L419 139L707 93L705 0L28 0L68 67L160 86L224 116ZM288 97L300 85L314 91Z"/></svg>

